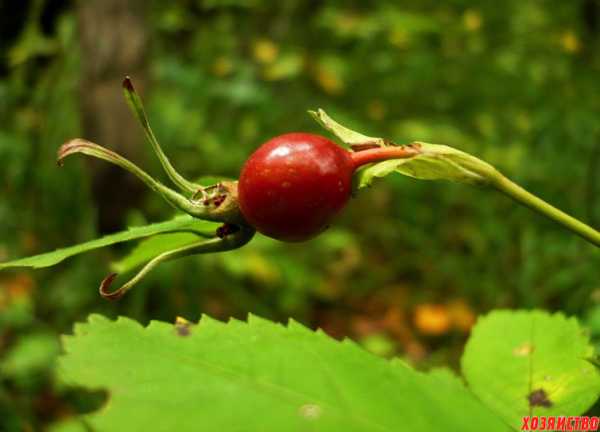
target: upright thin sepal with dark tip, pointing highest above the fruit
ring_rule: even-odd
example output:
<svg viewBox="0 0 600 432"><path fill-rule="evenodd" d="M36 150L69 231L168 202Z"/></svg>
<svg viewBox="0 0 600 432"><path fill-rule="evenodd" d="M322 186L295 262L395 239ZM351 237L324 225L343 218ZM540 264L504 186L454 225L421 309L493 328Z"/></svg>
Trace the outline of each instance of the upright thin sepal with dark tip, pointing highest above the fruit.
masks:
<svg viewBox="0 0 600 432"><path fill-rule="evenodd" d="M195 193L198 189L201 189L202 186L196 183L193 183L187 179L185 179L181 174L177 172L177 170L169 161L169 158L162 150L152 128L150 128L150 122L148 121L148 117L146 116L146 111L144 110L144 104L142 103L142 99L135 91L135 87L133 86L133 82L131 78L128 76L123 80L123 94L125 95L125 100L127 101L127 105L133 112L133 115L137 119L137 121L142 126L144 133L146 134L146 138L152 145L152 149L158 160L160 161L163 169L173 182L181 191Z"/></svg>

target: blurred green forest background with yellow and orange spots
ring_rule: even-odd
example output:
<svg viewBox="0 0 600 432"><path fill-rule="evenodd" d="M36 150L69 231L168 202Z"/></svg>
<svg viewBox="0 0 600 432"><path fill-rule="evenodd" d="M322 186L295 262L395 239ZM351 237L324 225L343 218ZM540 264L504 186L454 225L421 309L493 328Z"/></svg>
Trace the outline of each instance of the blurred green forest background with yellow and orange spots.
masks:
<svg viewBox="0 0 600 432"><path fill-rule="evenodd" d="M170 218L132 176L56 150L83 136L164 179L128 113L130 74L174 164L237 177L270 137L451 145L600 226L600 1L29 0L0 3L0 261ZM495 192L390 176L305 244L257 236L167 263L118 303L99 281L134 245L0 274L0 430L91 409L53 377L91 312L143 323L293 317L417 367L456 365L492 308L576 315L600 339L600 253Z"/></svg>

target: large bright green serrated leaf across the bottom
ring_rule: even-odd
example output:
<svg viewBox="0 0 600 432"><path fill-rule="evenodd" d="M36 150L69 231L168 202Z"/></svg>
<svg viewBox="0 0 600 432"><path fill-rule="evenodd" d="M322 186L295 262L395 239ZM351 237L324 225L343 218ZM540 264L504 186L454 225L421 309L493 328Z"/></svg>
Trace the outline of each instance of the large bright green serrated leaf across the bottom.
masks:
<svg viewBox="0 0 600 432"><path fill-rule="evenodd" d="M86 416L98 431L507 430L450 373L422 374L293 321L144 328L92 315L64 347L63 380L109 392Z"/></svg>

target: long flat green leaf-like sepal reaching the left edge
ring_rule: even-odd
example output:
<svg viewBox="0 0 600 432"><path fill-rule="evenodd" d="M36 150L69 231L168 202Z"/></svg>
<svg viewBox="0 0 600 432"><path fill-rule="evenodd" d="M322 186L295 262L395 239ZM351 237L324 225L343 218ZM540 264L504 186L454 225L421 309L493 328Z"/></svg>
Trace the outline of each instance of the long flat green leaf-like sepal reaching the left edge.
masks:
<svg viewBox="0 0 600 432"><path fill-rule="evenodd" d="M218 223L194 219L191 216L178 216L166 222L129 228L127 231L110 234L96 240L78 244L76 246L57 249L54 252L48 252L41 255L0 263L0 270L13 267L50 267L73 255L78 255L80 253L110 246L116 243L122 243L170 231L194 231L199 235L211 235L214 234L215 229L218 226Z"/></svg>

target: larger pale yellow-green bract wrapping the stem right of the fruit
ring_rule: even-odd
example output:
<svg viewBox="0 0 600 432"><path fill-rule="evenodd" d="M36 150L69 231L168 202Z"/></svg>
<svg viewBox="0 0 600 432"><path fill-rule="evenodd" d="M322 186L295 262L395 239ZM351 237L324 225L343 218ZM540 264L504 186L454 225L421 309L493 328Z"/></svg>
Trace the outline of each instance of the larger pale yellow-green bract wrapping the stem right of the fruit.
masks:
<svg viewBox="0 0 600 432"><path fill-rule="evenodd" d="M414 143L420 154L407 159L376 163L360 171L358 188L370 186L376 178L392 172L420 180L450 180L462 183L484 183L495 175L493 166L481 159L440 144Z"/></svg>

